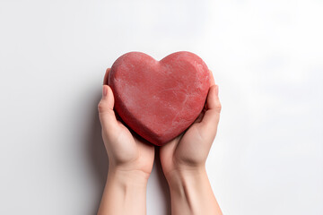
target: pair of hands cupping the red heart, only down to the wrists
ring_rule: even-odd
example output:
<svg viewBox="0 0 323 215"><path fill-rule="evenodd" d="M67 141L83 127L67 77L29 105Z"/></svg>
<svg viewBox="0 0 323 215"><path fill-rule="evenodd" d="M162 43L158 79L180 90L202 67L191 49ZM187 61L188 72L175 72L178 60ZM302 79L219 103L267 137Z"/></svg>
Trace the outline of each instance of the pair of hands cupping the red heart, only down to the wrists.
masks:
<svg viewBox="0 0 323 215"><path fill-rule="evenodd" d="M144 141L123 125L113 110L114 97L108 84L107 70L99 103L102 138L109 157L109 172L135 173L148 179L153 169L153 144ZM210 71L210 89L205 108L187 131L160 148L162 170L169 181L185 171L199 171L205 168L205 161L217 131L221 103L218 86Z"/></svg>

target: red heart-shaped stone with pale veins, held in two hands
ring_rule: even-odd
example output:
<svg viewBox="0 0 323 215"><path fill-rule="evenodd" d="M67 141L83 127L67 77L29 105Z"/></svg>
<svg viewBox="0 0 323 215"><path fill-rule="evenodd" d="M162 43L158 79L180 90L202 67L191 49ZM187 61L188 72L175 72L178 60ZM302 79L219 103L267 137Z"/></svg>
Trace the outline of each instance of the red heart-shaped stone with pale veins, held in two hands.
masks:
<svg viewBox="0 0 323 215"><path fill-rule="evenodd" d="M148 142L162 146L201 113L210 87L204 61L176 52L156 61L140 52L118 57L109 72L115 110Z"/></svg>

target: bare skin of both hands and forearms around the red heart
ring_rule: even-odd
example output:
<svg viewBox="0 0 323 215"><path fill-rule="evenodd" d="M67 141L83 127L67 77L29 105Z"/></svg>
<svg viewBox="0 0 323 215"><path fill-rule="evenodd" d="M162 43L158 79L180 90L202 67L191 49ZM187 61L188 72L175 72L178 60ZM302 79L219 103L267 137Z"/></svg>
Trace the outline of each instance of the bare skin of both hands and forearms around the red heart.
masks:
<svg viewBox="0 0 323 215"><path fill-rule="evenodd" d="M109 172L98 215L145 214L146 186L155 149L123 125L113 111L108 74L109 69L98 109ZM162 170L170 185L173 215L222 214L205 170L221 112L218 86L210 74L210 89L202 113L186 132L159 148Z"/></svg>

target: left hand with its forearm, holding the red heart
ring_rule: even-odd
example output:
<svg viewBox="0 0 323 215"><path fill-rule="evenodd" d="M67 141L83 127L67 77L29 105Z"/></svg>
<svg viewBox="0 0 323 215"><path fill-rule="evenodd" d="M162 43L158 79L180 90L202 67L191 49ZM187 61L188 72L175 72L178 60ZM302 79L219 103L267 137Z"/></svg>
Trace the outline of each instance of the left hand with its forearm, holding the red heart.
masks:
<svg viewBox="0 0 323 215"><path fill-rule="evenodd" d="M104 76L99 116L109 157L107 183L98 215L145 214L146 186L152 172L154 147L123 125L113 111L114 97Z"/></svg>

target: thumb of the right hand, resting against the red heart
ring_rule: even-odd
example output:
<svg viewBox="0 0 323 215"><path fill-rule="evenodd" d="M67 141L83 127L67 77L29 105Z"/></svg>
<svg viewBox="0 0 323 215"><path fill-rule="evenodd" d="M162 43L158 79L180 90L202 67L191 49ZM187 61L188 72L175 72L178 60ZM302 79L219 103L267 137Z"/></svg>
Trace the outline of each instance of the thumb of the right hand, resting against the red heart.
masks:
<svg viewBox="0 0 323 215"><path fill-rule="evenodd" d="M206 99L207 110L205 111L205 115L203 116L201 122L203 125L210 128L216 128L220 119L220 112L222 107L218 94L218 85L211 86Z"/></svg>

